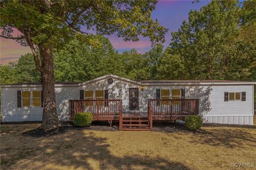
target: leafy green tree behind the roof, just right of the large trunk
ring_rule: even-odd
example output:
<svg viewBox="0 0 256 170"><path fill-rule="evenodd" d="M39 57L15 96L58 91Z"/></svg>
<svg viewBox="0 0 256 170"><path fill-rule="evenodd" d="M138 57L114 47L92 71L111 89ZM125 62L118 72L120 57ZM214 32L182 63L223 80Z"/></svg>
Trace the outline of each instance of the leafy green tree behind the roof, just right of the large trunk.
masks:
<svg viewBox="0 0 256 170"><path fill-rule="evenodd" d="M74 39L54 52L56 81L88 81L106 74L123 75L121 57L103 36L89 35L98 46Z"/></svg>

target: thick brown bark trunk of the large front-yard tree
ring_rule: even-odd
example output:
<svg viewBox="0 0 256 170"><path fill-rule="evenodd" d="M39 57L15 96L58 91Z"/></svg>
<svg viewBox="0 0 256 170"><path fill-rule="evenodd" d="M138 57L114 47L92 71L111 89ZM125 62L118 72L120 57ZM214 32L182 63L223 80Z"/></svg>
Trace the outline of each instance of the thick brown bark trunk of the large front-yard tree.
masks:
<svg viewBox="0 0 256 170"><path fill-rule="evenodd" d="M39 46L41 54L41 81L43 89L43 121L41 128L51 130L61 126L57 115L55 88L54 88L54 64L52 47Z"/></svg>

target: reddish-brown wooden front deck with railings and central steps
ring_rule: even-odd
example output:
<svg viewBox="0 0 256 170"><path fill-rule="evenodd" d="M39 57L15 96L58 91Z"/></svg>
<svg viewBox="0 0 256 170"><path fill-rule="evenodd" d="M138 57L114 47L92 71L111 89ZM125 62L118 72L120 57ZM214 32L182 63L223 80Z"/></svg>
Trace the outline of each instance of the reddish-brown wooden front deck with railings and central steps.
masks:
<svg viewBox="0 0 256 170"><path fill-rule="evenodd" d="M123 112L121 99L69 100L70 120L89 112L93 121L119 121L119 130L151 130L153 121L184 120L199 114L199 99L148 99L148 112Z"/></svg>

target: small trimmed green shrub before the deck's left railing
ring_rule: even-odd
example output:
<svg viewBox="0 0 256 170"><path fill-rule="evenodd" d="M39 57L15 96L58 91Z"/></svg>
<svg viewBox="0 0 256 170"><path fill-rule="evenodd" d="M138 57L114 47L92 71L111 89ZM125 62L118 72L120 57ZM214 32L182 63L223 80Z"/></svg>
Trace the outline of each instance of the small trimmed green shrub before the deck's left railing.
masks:
<svg viewBox="0 0 256 170"><path fill-rule="evenodd" d="M90 126L92 123L91 113L77 113L74 115L73 123L76 126Z"/></svg>

